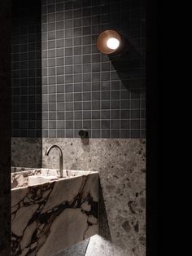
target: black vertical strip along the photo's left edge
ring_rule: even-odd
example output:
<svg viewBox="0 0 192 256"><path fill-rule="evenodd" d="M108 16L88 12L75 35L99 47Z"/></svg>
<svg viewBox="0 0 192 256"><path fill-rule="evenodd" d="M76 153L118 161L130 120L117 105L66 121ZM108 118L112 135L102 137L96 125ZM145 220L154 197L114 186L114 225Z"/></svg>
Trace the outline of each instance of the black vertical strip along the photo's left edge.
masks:
<svg viewBox="0 0 192 256"><path fill-rule="evenodd" d="M11 0L0 1L0 255L11 255Z"/></svg>

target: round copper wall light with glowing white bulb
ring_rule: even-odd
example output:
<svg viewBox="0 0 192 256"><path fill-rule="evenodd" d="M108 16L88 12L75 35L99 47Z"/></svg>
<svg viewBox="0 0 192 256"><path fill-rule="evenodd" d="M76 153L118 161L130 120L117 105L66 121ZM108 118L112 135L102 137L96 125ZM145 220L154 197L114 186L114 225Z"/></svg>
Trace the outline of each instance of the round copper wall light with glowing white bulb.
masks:
<svg viewBox="0 0 192 256"><path fill-rule="evenodd" d="M121 41L120 34L115 30L106 30L98 37L98 50L107 55L113 54L119 50Z"/></svg>

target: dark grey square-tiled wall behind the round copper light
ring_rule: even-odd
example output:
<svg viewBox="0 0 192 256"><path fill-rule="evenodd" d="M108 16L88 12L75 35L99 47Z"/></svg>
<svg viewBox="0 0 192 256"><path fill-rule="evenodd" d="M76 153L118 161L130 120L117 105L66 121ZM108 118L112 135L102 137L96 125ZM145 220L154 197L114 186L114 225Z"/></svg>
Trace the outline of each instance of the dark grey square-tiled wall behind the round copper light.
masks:
<svg viewBox="0 0 192 256"><path fill-rule="evenodd" d="M144 138L145 1L42 0L42 136ZM129 40L117 57L98 52L105 29Z"/></svg>

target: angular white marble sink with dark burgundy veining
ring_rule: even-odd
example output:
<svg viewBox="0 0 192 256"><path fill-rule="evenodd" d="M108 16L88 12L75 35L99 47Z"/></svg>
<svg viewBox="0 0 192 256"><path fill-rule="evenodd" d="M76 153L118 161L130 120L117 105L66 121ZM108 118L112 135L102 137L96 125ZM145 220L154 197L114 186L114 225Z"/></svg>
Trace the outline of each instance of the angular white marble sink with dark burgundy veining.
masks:
<svg viewBox="0 0 192 256"><path fill-rule="evenodd" d="M11 174L11 255L53 256L98 234L98 172L22 170Z"/></svg>

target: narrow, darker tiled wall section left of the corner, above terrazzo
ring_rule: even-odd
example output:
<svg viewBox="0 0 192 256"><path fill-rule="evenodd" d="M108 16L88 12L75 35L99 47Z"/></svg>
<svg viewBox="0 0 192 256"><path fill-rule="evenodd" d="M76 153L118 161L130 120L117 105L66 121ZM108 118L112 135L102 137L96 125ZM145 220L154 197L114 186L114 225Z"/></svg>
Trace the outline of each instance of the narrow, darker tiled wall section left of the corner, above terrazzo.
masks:
<svg viewBox="0 0 192 256"><path fill-rule="evenodd" d="M12 136L41 137L41 1L12 2Z"/></svg>

